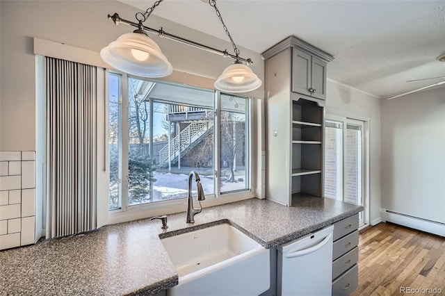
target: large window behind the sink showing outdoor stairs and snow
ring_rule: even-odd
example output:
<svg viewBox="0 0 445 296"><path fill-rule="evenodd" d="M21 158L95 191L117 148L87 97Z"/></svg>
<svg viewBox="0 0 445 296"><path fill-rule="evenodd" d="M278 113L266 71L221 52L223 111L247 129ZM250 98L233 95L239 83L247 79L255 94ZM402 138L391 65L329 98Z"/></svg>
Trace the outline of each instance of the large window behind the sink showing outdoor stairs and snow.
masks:
<svg viewBox="0 0 445 296"><path fill-rule="evenodd" d="M250 99L111 72L108 81L110 210L187 197L191 170L206 195L250 189Z"/></svg>

